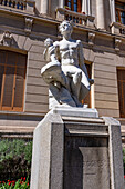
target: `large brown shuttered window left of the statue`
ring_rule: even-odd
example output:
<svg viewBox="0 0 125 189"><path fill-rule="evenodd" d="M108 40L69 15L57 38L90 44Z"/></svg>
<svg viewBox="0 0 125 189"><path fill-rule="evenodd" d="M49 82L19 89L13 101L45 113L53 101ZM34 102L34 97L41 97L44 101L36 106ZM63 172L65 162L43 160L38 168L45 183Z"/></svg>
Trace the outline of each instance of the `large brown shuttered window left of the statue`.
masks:
<svg viewBox="0 0 125 189"><path fill-rule="evenodd" d="M22 111L27 56L0 50L0 110Z"/></svg>

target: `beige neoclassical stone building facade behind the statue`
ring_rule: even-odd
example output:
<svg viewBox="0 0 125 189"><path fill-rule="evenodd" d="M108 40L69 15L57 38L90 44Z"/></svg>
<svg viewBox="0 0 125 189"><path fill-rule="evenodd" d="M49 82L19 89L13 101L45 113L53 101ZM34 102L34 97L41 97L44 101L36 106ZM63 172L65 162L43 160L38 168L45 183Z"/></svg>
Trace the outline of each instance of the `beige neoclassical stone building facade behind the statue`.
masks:
<svg viewBox="0 0 125 189"><path fill-rule="evenodd" d="M32 137L49 111L48 86L41 78L46 38L60 40L59 24L75 22L72 38L83 43L94 79L85 103L114 117L125 130L125 1L0 0L0 133Z"/></svg>

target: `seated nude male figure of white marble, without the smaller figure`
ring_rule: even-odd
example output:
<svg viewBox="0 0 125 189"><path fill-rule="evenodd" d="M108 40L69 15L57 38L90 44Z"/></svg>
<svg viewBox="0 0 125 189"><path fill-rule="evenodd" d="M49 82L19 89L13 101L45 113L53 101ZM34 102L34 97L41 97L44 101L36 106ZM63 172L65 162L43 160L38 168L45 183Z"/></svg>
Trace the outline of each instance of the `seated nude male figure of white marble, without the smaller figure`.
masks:
<svg viewBox="0 0 125 189"><path fill-rule="evenodd" d="M71 92L75 101L80 101L88 93L92 80L88 79L87 70L84 64L82 42L72 40L71 34L73 24L63 21L60 24L60 32L63 36L61 41L55 41L53 46L56 53L60 53L61 68L70 79ZM59 56L59 54L58 54Z"/></svg>

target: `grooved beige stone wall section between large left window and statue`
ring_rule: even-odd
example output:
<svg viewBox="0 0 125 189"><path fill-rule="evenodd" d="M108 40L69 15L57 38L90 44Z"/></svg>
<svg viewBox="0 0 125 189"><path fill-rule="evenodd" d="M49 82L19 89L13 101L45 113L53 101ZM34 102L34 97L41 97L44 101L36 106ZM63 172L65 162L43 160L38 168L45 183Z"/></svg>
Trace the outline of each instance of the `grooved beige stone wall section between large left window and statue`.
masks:
<svg viewBox="0 0 125 189"><path fill-rule="evenodd" d="M43 60L43 42L32 44L28 53L25 107L28 112L48 111L48 86L41 77L41 68L45 64Z"/></svg>

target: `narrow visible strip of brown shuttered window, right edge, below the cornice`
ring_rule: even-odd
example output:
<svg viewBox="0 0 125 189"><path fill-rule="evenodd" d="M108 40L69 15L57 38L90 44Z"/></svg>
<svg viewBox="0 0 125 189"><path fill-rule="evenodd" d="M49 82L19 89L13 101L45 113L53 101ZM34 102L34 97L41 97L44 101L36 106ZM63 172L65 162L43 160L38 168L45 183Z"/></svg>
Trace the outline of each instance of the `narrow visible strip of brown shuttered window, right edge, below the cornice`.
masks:
<svg viewBox="0 0 125 189"><path fill-rule="evenodd" d="M125 70L117 70L119 115L125 118Z"/></svg>

